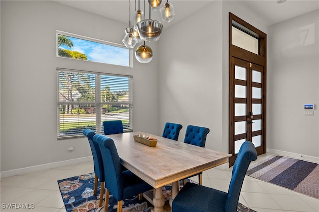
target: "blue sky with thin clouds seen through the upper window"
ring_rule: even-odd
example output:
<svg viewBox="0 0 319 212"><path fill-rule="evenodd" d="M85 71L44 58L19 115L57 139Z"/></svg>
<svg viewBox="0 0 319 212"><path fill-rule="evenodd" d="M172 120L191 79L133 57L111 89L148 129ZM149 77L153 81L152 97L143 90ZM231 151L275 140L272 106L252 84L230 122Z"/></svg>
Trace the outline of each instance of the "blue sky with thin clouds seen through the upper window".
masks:
<svg viewBox="0 0 319 212"><path fill-rule="evenodd" d="M96 43L88 40L82 40L69 36L66 37L73 42L74 47L72 49L65 45L62 45L61 47L85 54L90 61L129 66L129 49Z"/></svg>

